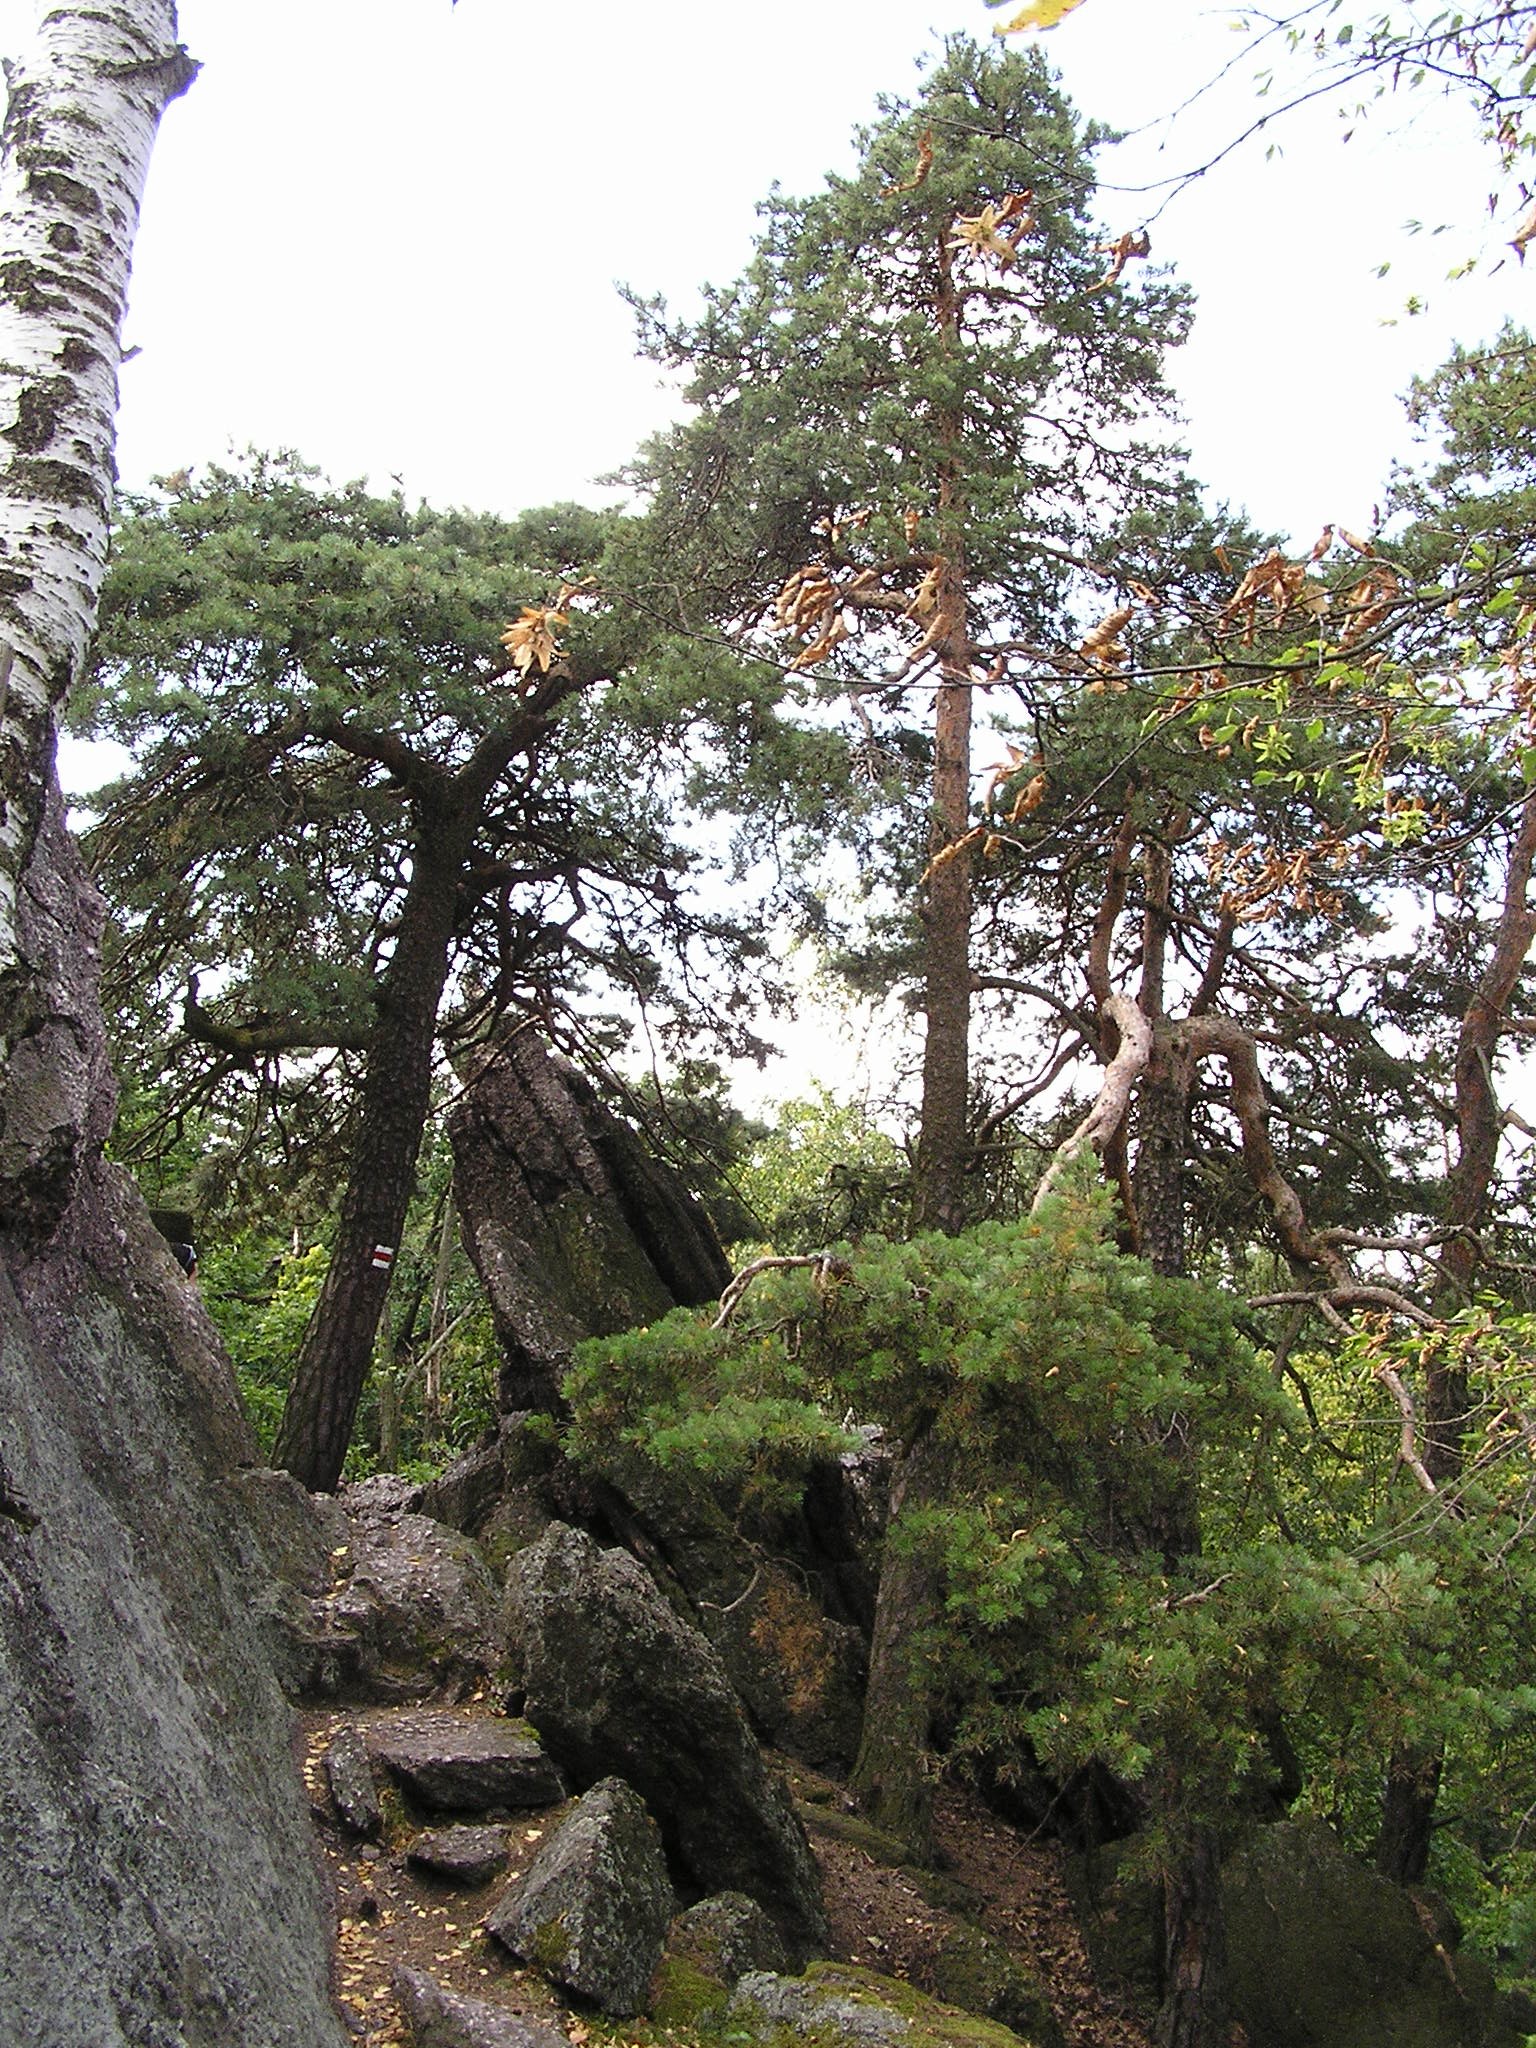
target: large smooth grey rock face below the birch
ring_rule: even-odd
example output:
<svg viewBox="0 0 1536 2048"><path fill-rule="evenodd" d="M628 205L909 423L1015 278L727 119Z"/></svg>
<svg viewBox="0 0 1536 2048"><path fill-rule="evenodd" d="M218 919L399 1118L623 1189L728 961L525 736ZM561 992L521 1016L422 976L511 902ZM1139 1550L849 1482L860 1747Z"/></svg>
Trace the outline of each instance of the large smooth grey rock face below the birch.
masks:
<svg viewBox="0 0 1536 2048"><path fill-rule="evenodd" d="M340 2048L250 1460L197 1288L88 1163L0 1241L0 2034Z"/></svg>

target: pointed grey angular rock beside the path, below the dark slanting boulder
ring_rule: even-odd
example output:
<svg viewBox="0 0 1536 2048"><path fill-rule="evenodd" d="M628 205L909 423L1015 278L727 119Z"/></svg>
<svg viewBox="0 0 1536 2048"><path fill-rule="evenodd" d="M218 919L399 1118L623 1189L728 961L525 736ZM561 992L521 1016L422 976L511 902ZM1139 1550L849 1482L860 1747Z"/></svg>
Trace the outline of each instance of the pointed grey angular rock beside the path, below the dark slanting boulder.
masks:
<svg viewBox="0 0 1536 2048"><path fill-rule="evenodd" d="M485 1921L551 1982L631 2019L645 2009L676 1898L645 1802L604 1778Z"/></svg>

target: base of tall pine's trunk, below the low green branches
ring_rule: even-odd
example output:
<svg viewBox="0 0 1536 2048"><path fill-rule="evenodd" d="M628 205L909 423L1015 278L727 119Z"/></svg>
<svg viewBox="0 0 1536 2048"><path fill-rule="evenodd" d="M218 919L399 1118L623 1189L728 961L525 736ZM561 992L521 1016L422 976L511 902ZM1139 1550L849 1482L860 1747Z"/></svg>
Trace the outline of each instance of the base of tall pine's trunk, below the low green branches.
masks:
<svg viewBox="0 0 1536 2048"><path fill-rule="evenodd" d="M903 1452L891 1481L864 1729L850 1780L870 1821L907 1843L920 1864L932 1862L934 1853L938 1776L932 1745L938 1673L924 1657L920 1638L938 1614L944 1587L934 1556L901 1542L901 1520L940 1499L946 1477L948 1458L928 1427Z"/></svg>

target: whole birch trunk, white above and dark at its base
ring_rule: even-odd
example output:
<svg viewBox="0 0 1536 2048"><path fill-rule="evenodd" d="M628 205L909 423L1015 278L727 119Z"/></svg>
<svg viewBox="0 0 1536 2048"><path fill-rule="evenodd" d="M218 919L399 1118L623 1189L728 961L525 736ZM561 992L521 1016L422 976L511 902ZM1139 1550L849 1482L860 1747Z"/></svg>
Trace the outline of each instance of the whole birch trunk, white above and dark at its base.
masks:
<svg viewBox="0 0 1536 2048"><path fill-rule="evenodd" d="M55 6L0 133L0 1227L45 1239L102 1130L94 979L55 928L55 715L96 618L117 367L150 147L195 66L170 0ZM41 860L45 872L33 872ZM78 885L66 879L63 897ZM106 1118L111 1106L106 1104Z"/></svg>

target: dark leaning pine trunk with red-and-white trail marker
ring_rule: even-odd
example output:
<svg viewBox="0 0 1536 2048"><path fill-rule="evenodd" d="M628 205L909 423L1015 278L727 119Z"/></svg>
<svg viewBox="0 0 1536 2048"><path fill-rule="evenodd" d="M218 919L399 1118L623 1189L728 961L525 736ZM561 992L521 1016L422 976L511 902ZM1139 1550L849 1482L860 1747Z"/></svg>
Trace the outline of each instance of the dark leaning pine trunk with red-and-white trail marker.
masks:
<svg viewBox="0 0 1536 2048"><path fill-rule="evenodd" d="M336 1243L272 1448L272 1462L315 1493L330 1493L342 1477L430 1108L438 1004L471 821L463 805L424 805L424 813L395 954L379 985Z"/></svg>

